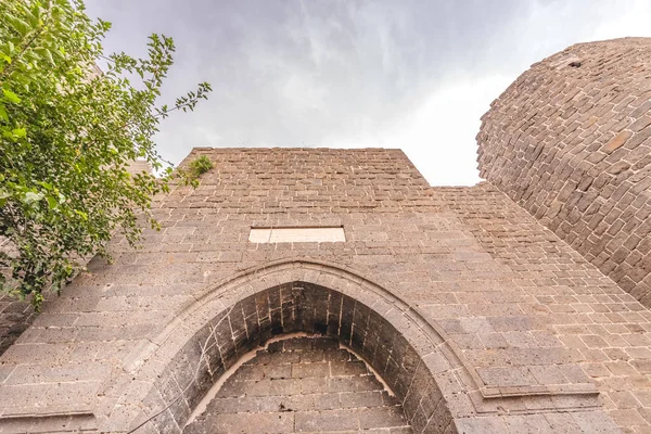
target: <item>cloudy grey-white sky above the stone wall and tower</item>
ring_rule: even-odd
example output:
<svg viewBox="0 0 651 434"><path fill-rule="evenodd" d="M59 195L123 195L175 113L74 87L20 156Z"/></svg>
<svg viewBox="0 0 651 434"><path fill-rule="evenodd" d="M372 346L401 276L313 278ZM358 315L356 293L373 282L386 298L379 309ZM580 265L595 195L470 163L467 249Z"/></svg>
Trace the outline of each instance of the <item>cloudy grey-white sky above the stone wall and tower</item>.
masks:
<svg viewBox="0 0 651 434"><path fill-rule="evenodd" d="M113 23L106 52L171 36L162 102L214 92L157 137L193 146L400 148L433 186L480 180L488 104L572 43L651 36L649 0L88 0Z"/></svg>

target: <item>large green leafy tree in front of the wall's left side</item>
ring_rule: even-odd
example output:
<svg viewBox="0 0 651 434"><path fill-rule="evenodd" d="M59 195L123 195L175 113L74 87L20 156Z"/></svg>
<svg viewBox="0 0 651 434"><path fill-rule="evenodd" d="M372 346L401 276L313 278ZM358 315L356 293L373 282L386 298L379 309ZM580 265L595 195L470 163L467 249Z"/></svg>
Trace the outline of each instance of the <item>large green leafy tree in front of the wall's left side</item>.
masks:
<svg viewBox="0 0 651 434"><path fill-rule="evenodd" d="M0 1L0 286L35 306L60 291L80 258L108 256L122 231L132 245L140 219L152 227L152 195L167 191L171 169L156 179L130 175L129 163L164 161L153 136L175 110L193 110L208 84L156 105L173 65L171 38L152 35L146 59L104 58L110 23L91 21L82 0ZM107 61L100 74L95 61ZM136 82L131 82L133 77Z"/></svg>

